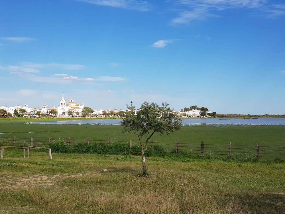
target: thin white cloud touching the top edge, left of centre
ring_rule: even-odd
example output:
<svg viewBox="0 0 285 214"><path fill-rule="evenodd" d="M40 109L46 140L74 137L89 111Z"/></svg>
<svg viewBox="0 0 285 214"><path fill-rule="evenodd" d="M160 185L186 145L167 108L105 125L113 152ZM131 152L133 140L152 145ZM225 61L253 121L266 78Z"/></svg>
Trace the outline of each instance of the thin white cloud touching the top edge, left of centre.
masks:
<svg viewBox="0 0 285 214"><path fill-rule="evenodd" d="M118 7L123 9L131 9L138 11L149 11L151 4L147 1L137 0L76 0L94 5Z"/></svg>

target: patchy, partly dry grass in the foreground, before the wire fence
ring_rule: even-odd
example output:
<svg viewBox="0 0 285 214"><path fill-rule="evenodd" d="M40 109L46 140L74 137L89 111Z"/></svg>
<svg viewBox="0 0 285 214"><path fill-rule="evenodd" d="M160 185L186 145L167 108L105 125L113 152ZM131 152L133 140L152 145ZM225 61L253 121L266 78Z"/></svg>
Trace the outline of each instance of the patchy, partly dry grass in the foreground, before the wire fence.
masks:
<svg viewBox="0 0 285 214"><path fill-rule="evenodd" d="M285 213L285 164L5 150L0 213Z"/></svg>

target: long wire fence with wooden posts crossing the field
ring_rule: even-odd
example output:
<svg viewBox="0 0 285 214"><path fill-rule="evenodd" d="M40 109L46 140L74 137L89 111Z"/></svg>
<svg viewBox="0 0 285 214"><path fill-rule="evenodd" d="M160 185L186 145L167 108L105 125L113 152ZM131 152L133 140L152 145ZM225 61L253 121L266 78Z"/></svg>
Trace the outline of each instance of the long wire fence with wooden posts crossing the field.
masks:
<svg viewBox="0 0 285 214"><path fill-rule="evenodd" d="M67 138L16 138L14 137L1 137L0 146L38 146L50 147L51 144L61 143L67 147L73 147L80 144L105 144L106 146L123 145L127 149L132 150L135 147L140 147L140 142L109 139L71 139ZM145 144L145 142L143 143ZM158 149L159 148L159 149ZM235 158L235 159L257 159L260 161L285 161L285 147L280 146L262 146L259 143L256 145L239 145L231 144L211 144L204 142L190 142L179 143L175 142L148 142L148 150L156 150L160 153L177 153L177 154L190 154L201 157L214 157L214 158Z"/></svg>

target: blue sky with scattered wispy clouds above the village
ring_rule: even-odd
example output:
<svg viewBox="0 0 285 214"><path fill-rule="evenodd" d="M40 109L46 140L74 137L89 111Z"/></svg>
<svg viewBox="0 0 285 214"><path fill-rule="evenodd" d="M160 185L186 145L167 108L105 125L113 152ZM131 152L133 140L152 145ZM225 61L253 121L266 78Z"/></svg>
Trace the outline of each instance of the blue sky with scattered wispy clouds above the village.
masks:
<svg viewBox="0 0 285 214"><path fill-rule="evenodd" d="M2 1L0 106L285 114L285 3Z"/></svg>

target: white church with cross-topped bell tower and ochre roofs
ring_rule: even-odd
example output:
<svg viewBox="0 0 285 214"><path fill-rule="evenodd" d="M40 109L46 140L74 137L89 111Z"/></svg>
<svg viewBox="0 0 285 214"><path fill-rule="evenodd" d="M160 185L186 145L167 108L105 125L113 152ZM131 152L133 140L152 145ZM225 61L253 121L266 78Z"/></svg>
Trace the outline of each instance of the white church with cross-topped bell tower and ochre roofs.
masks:
<svg viewBox="0 0 285 214"><path fill-rule="evenodd" d="M74 102L73 98L70 98L70 101L66 102L63 94L64 93L62 92L62 98L57 108L55 106L53 108L48 108L48 105L43 104L41 108L41 113L49 114L51 110L56 110L58 117L68 117L68 111L72 111L73 116L82 116L84 103L78 104L77 102Z"/></svg>

